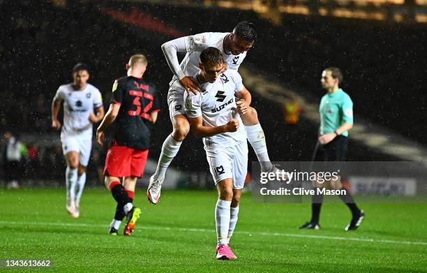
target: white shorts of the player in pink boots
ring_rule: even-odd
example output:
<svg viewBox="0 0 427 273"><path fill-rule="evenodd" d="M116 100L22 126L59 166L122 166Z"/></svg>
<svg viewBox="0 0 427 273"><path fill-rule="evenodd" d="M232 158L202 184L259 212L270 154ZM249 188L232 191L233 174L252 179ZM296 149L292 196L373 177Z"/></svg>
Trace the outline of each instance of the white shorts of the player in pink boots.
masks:
<svg viewBox="0 0 427 273"><path fill-rule="evenodd" d="M204 147L209 169L215 184L232 178L233 189L243 189L248 173L248 143L238 142L232 147Z"/></svg>

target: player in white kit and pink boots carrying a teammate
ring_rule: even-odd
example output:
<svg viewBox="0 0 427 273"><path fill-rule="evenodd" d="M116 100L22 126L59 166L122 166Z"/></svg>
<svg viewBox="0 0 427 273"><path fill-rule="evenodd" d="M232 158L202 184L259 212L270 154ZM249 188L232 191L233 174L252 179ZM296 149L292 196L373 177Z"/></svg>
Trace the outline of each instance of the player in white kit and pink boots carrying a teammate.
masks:
<svg viewBox="0 0 427 273"><path fill-rule="evenodd" d="M237 257L229 246L237 223L241 189L248 172L248 144L241 117L248 114L251 96L235 70L221 72L223 55L216 47L200 54L201 71L194 80L197 94L184 94L184 108L193 133L203 138L213 181L218 189L215 207L218 260Z"/></svg>

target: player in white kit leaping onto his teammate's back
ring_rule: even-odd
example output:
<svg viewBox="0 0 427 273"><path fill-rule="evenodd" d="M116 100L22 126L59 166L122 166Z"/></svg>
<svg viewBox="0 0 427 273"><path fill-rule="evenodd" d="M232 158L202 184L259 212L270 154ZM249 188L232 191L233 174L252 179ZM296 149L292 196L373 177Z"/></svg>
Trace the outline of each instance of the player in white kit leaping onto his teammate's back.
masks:
<svg viewBox="0 0 427 273"><path fill-rule="evenodd" d="M190 131L190 124L183 109L183 93L191 91L196 94L197 91L200 91L200 84L192 78L199 71L200 52L207 47L216 47L223 54L223 71L227 68L237 71L246 57L246 52L255 43L256 36L253 24L244 21L239 22L232 33L207 32L170 40L162 45L167 63L174 73L167 94L173 131L163 142L156 172L150 177L147 195L153 204L156 204L160 198L160 189L167 167L177 155L182 141ZM178 62L177 52L186 52L181 64ZM269 159L264 131L262 131L256 110L248 107L242 120L248 141L260 161L262 171L274 171L275 168Z"/></svg>

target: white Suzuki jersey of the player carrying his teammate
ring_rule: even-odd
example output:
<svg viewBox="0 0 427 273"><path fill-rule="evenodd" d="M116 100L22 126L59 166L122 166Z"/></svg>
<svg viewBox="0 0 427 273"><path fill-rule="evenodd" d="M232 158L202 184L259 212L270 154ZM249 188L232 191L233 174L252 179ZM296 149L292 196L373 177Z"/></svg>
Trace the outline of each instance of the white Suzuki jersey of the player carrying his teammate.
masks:
<svg viewBox="0 0 427 273"><path fill-rule="evenodd" d="M197 76L195 77L197 80ZM199 82L197 80L197 82ZM203 117L203 125L216 127L227 124L233 117L239 120L239 130L203 138L205 147L230 147L246 142L246 131L237 109L235 93L243 91L241 76L227 70L213 82L199 82L202 89L197 95L184 92L184 108L188 117Z"/></svg>

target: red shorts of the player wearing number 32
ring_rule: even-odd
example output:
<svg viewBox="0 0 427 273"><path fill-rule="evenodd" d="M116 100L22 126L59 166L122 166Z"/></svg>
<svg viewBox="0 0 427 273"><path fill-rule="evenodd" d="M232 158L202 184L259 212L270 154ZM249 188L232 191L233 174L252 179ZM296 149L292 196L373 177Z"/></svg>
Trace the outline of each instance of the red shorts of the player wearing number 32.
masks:
<svg viewBox="0 0 427 273"><path fill-rule="evenodd" d="M142 177L149 149L134 149L112 145L105 159L104 175L112 177Z"/></svg>

